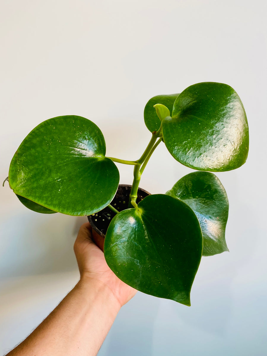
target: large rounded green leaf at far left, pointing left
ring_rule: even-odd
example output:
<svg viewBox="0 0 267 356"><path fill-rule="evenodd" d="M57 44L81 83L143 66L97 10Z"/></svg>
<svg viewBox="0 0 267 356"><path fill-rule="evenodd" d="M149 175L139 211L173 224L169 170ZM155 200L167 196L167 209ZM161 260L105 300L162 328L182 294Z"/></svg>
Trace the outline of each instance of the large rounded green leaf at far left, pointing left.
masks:
<svg viewBox="0 0 267 356"><path fill-rule="evenodd" d="M60 213L82 216L113 199L119 172L105 157L100 129L81 116L42 122L21 143L9 169L14 193Z"/></svg>

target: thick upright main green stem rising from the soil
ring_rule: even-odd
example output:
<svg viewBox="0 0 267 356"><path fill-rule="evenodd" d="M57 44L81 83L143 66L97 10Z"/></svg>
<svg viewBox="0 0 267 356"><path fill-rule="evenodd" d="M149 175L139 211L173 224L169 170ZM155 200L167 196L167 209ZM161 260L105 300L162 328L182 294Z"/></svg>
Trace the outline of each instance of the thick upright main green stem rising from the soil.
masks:
<svg viewBox="0 0 267 356"><path fill-rule="evenodd" d="M146 167L148 160L150 159L152 153L154 152L155 148L161 142L161 138L157 141L158 133L160 130L161 130L161 128L157 132L155 131L152 133L152 137L151 137L150 142L147 145L147 148L145 149L142 156L136 161L137 164L136 164L135 168L133 169L133 182L132 182L132 189L131 189L131 193L130 193L128 208L131 208L132 206L134 206L136 208L136 206L137 206L136 198L137 198L137 191L138 191L141 175L143 173L143 170ZM157 143L155 144L156 141L157 141ZM143 166L142 166L142 164L143 164Z"/></svg>

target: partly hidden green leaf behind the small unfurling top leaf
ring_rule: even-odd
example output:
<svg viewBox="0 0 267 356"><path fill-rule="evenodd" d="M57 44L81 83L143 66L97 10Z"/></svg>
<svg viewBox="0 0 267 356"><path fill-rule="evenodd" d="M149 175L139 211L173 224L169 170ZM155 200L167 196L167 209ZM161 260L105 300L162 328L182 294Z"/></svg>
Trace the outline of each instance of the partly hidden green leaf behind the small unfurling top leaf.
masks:
<svg viewBox="0 0 267 356"><path fill-rule="evenodd" d="M154 105L163 104L167 106L168 110L170 111L169 115L172 115L173 103L178 95L179 94L157 95L148 100L144 110L144 119L146 127L150 132L158 131L159 127L161 126L161 120L157 115Z"/></svg>

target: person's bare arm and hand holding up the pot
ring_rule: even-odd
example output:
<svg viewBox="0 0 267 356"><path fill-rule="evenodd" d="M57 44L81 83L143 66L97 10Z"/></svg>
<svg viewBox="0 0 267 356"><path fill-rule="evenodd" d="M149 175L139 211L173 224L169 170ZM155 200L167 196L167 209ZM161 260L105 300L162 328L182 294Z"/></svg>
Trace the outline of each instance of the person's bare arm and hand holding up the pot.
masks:
<svg viewBox="0 0 267 356"><path fill-rule="evenodd" d="M92 235L89 223L80 227L74 243L79 282L6 356L95 356L98 353L120 308L137 292L108 267L103 245L104 239L95 232Z"/></svg>

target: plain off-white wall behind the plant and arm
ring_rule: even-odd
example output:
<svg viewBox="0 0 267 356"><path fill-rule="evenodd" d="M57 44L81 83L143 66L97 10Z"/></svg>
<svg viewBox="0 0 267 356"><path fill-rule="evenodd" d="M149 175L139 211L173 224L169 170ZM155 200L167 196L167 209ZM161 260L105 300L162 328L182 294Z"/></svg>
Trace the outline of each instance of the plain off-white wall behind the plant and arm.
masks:
<svg viewBox="0 0 267 356"><path fill-rule="evenodd" d="M266 8L264 1L2 0L1 174L40 122L80 115L107 156L137 159L150 139L143 108L198 82L231 85L244 103L250 152L217 174L230 202L230 253L202 259L192 307L137 293L100 356L266 355ZM118 164L121 183L132 167ZM191 169L160 145L141 187L165 193ZM0 189L0 353L20 342L78 280L86 218L37 214Z"/></svg>

